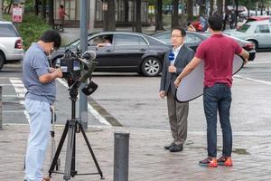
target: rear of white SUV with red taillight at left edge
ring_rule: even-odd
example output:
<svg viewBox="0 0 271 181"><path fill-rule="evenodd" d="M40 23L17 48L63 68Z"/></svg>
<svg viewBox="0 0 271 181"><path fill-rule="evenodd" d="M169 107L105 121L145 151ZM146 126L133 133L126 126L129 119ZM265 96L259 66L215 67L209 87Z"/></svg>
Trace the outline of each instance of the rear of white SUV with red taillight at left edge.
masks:
<svg viewBox="0 0 271 181"><path fill-rule="evenodd" d="M11 22L0 21L0 70L5 63L23 60L23 40Z"/></svg>

